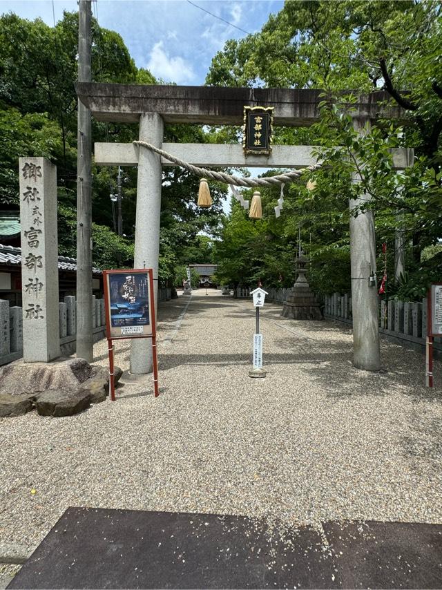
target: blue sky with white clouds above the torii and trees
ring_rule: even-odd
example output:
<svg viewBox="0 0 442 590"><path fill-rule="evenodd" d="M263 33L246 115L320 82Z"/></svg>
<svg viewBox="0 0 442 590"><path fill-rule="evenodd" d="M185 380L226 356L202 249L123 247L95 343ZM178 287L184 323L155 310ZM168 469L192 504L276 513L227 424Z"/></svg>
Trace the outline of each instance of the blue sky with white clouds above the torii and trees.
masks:
<svg viewBox="0 0 442 590"><path fill-rule="evenodd" d="M192 2L247 32L260 30L283 5L282 0ZM204 84L211 59L225 41L245 36L187 0L97 0L93 5L99 24L119 32L137 66L165 82ZM0 0L0 12L40 17L50 26L64 10L78 10L77 0Z"/></svg>

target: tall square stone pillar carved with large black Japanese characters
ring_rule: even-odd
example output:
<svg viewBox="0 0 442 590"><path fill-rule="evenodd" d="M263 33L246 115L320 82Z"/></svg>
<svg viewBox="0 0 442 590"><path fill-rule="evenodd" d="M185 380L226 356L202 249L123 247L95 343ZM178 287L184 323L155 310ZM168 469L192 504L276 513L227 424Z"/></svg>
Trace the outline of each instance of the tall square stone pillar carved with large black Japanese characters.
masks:
<svg viewBox="0 0 442 590"><path fill-rule="evenodd" d="M45 158L20 158L23 361L60 356L57 168Z"/></svg>

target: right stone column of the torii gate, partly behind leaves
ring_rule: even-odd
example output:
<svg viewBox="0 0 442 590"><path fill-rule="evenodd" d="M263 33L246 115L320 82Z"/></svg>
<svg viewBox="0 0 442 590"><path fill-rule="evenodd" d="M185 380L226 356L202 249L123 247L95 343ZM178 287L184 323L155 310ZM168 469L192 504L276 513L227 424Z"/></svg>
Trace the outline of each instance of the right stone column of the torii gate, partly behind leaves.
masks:
<svg viewBox="0 0 442 590"><path fill-rule="evenodd" d="M354 127L363 133L365 121L354 120ZM360 179L354 175L353 182ZM351 200L350 210L370 198L363 193ZM352 267L353 362L358 369L381 369L378 329L378 289L369 286L369 276L376 273L376 240L372 211L350 217L350 259Z"/></svg>

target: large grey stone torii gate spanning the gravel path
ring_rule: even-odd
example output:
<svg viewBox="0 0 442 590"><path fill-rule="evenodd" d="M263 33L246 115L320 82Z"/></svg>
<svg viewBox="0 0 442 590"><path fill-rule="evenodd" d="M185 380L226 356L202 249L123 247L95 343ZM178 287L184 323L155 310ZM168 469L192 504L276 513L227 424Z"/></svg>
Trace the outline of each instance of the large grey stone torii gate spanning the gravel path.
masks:
<svg viewBox="0 0 442 590"><path fill-rule="evenodd" d="M320 90L289 88L215 88L212 86L138 86L78 82L77 94L99 121L139 122L140 141L197 166L301 168L316 164L311 146L274 145L271 155L244 155L239 144L170 144L163 142L164 122L241 125L244 106L273 106L273 125L309 126L319 120ZM381 106L389 96L383 91L361 95L353 113L354 126L378 117L402 119L398 107ZM410 165L410 150L396 149L394 168ZM134 144L97 143L95 163L138 166L135 222L135 268L151 267L158 276L162 166L174 165ZM357 182L357 179L355 179ZM363 195L365 200L369 195ZM351 208L357 203L350 203ZM378 295L369 286L376 272L376 242L371 211L350 222L354 364L379 370ZM363 280L361 280L363 279ZM155 289L156 293L156 289ZM156 302L155 302L156 303ZM155 305L156 309L156 305ZM152 371L151 347L142 339L131 345L131 373Z"/></svg>

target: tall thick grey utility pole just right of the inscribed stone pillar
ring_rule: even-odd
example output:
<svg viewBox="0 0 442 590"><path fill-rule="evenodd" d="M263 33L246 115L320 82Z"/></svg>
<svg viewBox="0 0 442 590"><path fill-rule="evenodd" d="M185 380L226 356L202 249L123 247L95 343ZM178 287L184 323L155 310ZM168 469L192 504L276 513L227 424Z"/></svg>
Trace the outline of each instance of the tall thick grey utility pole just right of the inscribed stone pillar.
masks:
<svg viewBox="0 0 442 590"><path fill-rule="evenodd" d="M79 0L78 81L91 82L91 0ZM77 357L93 361L92 173L90 111L78 100L77 127Z"/></svg>

